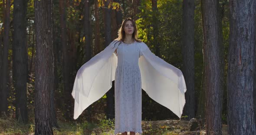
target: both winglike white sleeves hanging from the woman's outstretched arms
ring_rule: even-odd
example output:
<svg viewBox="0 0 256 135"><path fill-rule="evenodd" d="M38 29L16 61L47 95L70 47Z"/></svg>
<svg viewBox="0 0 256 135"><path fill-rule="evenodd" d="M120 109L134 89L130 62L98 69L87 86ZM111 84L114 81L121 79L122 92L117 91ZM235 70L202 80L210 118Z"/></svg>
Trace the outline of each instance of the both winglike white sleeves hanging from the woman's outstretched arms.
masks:
<svg viewBox="0 0 256 135"><path fill-rule="evenodd" d="M74 119L89 105L99 100L115 79L117 41L86 62L76 74L72 90L75 99ZM170 109L181 118L185 105L186 84L182 72L155 56L144 42L135 42L142 56L139 58L142 89L153 100Z"/></svg>

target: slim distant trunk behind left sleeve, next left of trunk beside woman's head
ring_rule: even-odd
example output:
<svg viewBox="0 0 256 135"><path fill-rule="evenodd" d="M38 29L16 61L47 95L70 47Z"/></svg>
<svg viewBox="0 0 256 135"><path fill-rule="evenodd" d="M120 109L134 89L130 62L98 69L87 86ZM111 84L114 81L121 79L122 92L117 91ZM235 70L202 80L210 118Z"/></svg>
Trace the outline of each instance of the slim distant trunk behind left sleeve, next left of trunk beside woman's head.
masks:
<svg viewBox="0 0 256 135"><path fill-rule="evenodd" d="M101 50L101 45L100 45L100 42L99 42L99 39L100 39L100 36L99 36L99 33L100 33L100 26L99 26L99 23L100 23L100 19L99 19L99 15L98 15L98 0L95 0L94 1L94 6L95 6L95 38L94 38L94 46L95 46L95 54L98 54Z"/></svg>

